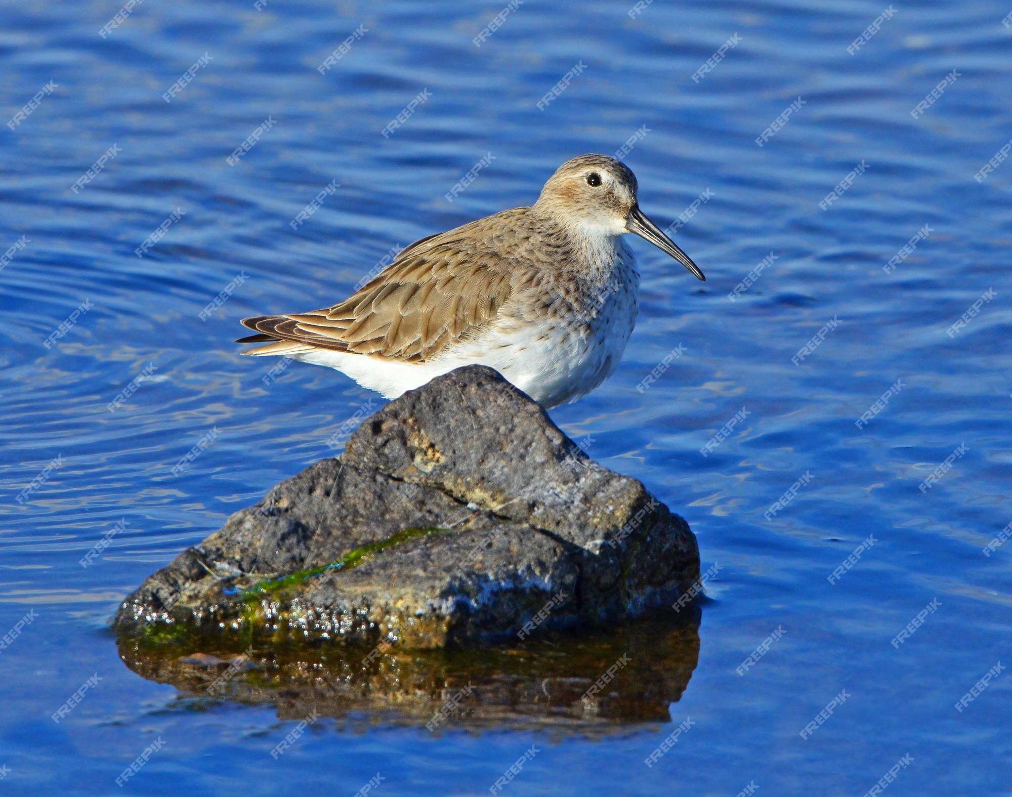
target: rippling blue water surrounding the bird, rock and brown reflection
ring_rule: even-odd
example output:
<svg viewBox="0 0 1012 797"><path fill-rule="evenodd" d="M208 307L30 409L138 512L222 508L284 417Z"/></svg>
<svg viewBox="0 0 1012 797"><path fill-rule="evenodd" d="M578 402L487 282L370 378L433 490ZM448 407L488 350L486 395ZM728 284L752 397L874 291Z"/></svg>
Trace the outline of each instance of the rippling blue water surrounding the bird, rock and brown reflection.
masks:
<svg viewBox="0 0 1012 797"><path fill-rule="evenodd" d="M1012 130L1007 7L904 4L853 56L847 46L881 4L666 0L632 19L624 3L527 2L480 48L472 39L500 3L145 3L103 39L118 8L7 3L0 30L4 119L57 84L0 135L0 249L27 239L0 272L0 627L36 616L0 651L0 765L9 770L0 788L118 793L116 776L159 738L164 746L126 788L350 794L380 772L376 793L485 793L531 744L539 751L505 791L733 795L754 783L760 794L863 794L908 754L891 794L1008 788L1012 680L1001 673L955 708L1009 660L1012 632L1012 546L982 552L1012 520L1012 166L974 178ZM359 25L347 54L318 72ZM740 42L694 82L736 33ZM205 53L212 60L166 102ZM580 74L539 110L577 64ZM431 96L384 138L424 89ZM238 320L329 303L396 244L529 203L564 160L613 153L643 125L626 162L646 212L664 227L709 192L675 236L708 281L634 242L644 295L622 365L553 417L684 515L703 567L719 567L688 666L671 675L684 683L661 715L641 722L646 712L631 711L604 735L565 721L546 730L462 720L430 734L366 711L351 724L321 718L275 760L294 712L201 700L125 667L107 630L117 602L229 513L329 455L325 439L370 397L301 364L265 384L270 363L238 357L231 343ZM488 168L448 202L487 154ZM289 220L334 180L340 187L293 230ZM138 257L177 208L178 223ZM887 274L925 225L927 239ZM230 283L231 297L201 320ZM994 298L947 335L989 289ZM836 326L794 365L827 325ZM638 391L679 345L684 354ZM152 378L110 412L149 364ZM218 439L174 476L213 428ZM920 490L960 445L951 469ZM58 456L63 464L18 504ZM809 483L767 520L805 474ZM120 519L125 529L82 567ZM869 535L873 544L831 584ZM933 601L923 624L892 644ZM649 658L642 632L628 633L641 634L636 649ZM660 650L676 632L651 633ZM623 638L616 631L611 644ZM530 660L528 678L541 667ZM630 678L616 689L635 696L649 686ZM841 692L848 697L803 738ZM644 759L686 718L648 768Z"/></svg>

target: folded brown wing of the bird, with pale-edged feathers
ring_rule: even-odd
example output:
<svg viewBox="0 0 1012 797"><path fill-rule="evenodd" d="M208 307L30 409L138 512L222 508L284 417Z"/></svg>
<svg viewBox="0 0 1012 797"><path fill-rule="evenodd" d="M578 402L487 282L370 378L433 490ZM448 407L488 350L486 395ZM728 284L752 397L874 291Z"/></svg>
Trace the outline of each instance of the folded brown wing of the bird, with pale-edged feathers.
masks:
<svg viewBox="0 0 1012 797"><path fill-rule="evenodd" d="M242 342L282 340L415 363L438 356L486 329L511 293L509 260L476 247L473 237L454 235L459 232L412 244L333 306L244 319L244 326L266 337Z"/></svg>

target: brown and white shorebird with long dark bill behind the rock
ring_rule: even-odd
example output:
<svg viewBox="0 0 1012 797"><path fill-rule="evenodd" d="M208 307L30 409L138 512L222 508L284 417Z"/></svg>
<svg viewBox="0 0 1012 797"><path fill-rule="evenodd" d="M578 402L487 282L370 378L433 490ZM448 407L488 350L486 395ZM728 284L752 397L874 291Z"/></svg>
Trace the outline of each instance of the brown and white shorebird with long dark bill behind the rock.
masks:
<svg viewBox="0 0 1012 797"><path fill-rule="evenodd" d="M611 375L632 333L640 274L625 233L705 279L640 209L631 170L583 155L534 204L416 241L330 307L243 319L257 334L237 343L336 368L388 398L481 363L556 407Z"/></svg>

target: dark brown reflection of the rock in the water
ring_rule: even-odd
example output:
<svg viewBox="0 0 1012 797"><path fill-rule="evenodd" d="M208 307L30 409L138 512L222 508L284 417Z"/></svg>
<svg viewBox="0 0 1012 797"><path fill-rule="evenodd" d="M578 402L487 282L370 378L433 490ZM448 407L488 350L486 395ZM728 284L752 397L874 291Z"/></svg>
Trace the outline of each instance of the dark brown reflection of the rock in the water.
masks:
<svg viewBox="0 0 1012 797"><path fill-rule="evenodd" d="M221 650L196 639L154 644L124 636L119 654L187 702L273 704L281 719L317 712L342 723L430 723L437 731L588 733L668 722L668 705L681 698L699 658L698 628L645 621L593 633L535 632L511 646L405 650L395 642L385 652L341 644ZM585 697L595 683L599 690ZM445 719L433 723L440 709Z"/></svg>

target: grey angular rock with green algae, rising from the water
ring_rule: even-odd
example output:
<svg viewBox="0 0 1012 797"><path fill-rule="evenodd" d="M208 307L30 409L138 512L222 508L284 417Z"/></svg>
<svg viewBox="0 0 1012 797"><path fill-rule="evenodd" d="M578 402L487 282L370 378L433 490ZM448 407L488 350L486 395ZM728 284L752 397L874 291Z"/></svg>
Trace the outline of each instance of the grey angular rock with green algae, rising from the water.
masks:
<svg viewBox="0 0 1012 797"><path fill-rule="evenodd" d="M440 647L674 614L698 577L684 520L469 366L234 514L145 581L114 625L153 640Z"/></svg>

